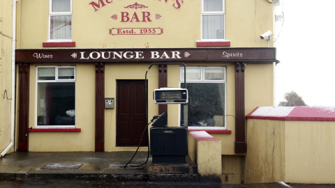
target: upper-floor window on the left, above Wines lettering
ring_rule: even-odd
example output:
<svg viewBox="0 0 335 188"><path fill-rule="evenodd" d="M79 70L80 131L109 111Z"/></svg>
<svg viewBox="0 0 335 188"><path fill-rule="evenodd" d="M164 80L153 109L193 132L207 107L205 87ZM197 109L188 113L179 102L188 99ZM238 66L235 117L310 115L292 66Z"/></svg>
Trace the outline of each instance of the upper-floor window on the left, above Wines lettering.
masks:
<svg viewBox="0 0 335 188"><path fill-rule="evenodd" d="M72 0L50 0L50 40L72 38Z"/></svg>

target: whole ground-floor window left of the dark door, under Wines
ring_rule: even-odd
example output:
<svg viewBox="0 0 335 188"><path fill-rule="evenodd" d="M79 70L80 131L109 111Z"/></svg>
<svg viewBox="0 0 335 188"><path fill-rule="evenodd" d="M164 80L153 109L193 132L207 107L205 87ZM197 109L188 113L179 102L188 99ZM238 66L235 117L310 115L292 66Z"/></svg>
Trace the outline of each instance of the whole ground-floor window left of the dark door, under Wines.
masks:
<svg viewBox="0 0 335 188"><path fill-rule="evenodd" d="M75 127L75 67L36 68L37 127Z"/></svg>

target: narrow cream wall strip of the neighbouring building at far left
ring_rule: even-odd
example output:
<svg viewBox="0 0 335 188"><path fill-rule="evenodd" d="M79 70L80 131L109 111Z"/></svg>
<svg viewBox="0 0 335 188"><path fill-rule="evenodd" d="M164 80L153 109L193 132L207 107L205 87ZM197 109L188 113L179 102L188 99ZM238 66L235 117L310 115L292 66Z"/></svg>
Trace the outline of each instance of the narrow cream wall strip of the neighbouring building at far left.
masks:
<svg viewBox="0 0 335 188"><path fill-rule="evenodd" d="M16 3L14 3L16 5ZM0 2L0 152L13 152L15 107L15 5ZM14 27L15 30L15 27Z"/></svg>

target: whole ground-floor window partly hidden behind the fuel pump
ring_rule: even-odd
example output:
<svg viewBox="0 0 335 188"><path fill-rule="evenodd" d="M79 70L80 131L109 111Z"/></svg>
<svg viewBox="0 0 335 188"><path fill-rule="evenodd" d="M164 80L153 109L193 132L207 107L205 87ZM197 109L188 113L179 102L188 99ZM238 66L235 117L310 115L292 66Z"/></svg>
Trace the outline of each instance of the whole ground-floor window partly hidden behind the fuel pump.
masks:
<svg viewBox="0 0 335 188"><path fill-rule="evenodd" d="M180 69L179 81L184 88L184 68ZM189 127L226 127L225 125L225 68L186 68L188 89ZM184 126L184 109L180 109L180 125Z"/></svg>

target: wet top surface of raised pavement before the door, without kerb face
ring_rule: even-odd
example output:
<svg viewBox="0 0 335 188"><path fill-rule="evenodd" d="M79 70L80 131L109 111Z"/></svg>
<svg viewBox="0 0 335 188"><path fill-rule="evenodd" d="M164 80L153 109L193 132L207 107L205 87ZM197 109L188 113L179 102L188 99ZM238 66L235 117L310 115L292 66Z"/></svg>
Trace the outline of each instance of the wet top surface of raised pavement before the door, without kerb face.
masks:
<svg viewBox="0 0 335 188"><path fill-rule="evenodd" d="M133 153L13 152L0 161L0 173L144 173L143 166L123 168ZM147 152L137 152L131 164L143 164L146 159Z"/></svg>

